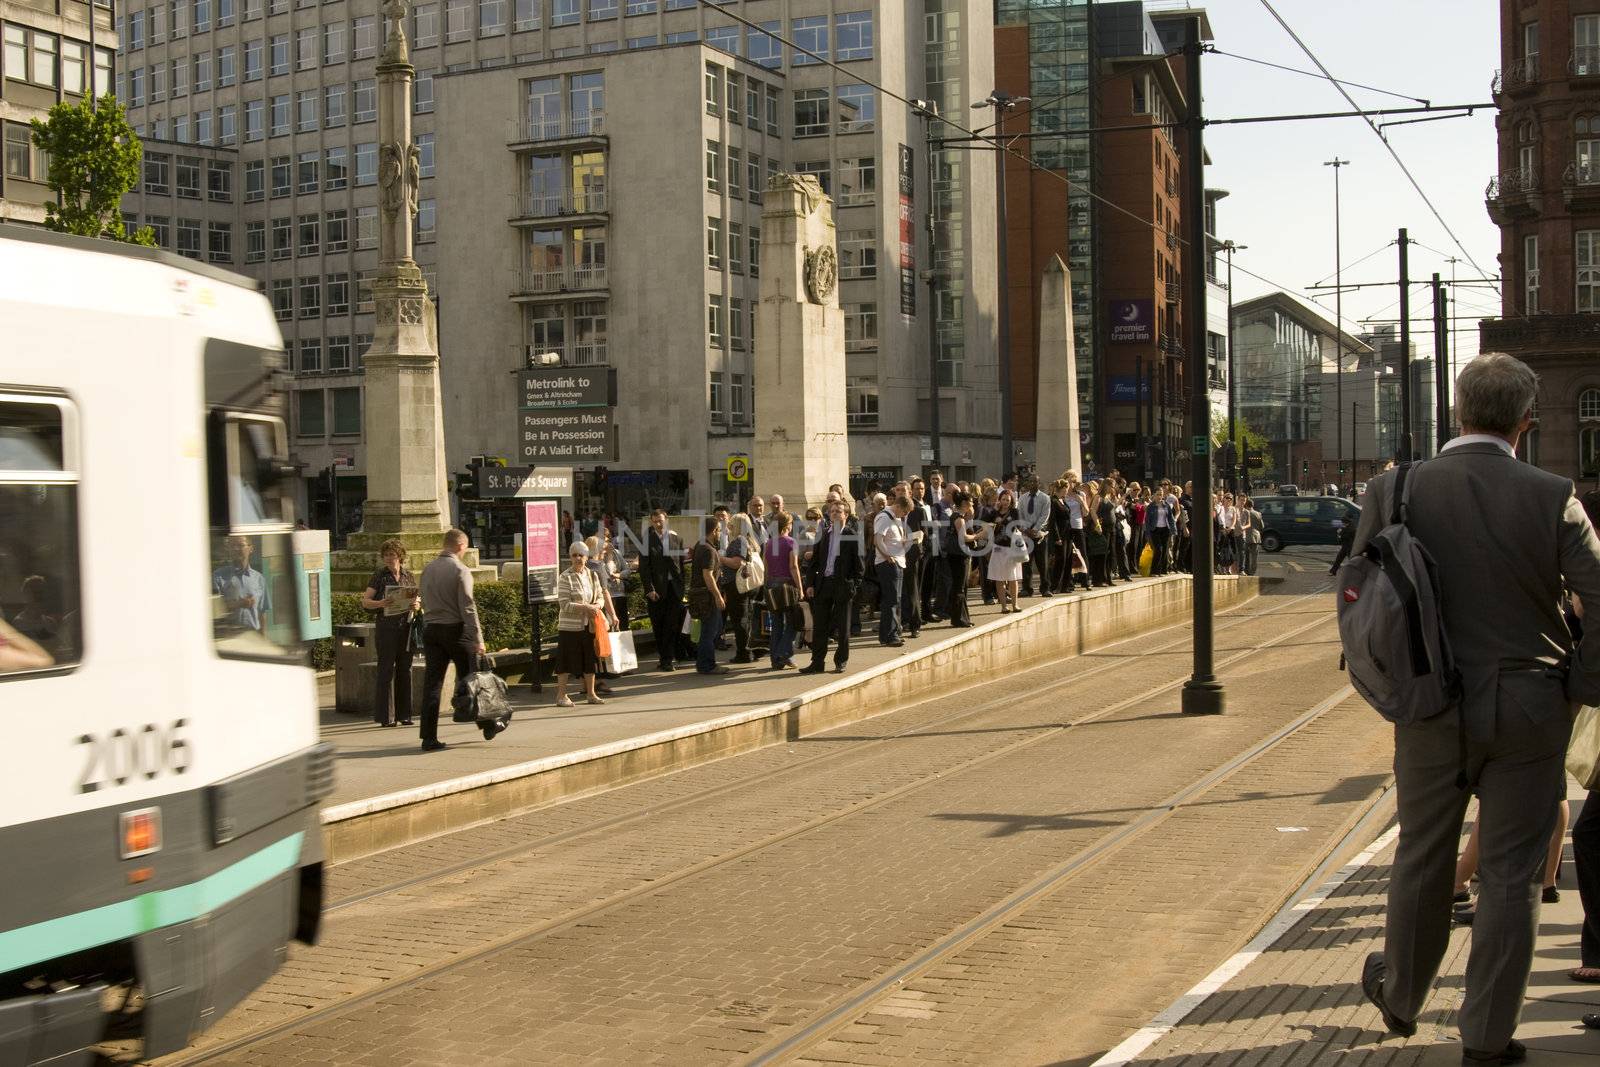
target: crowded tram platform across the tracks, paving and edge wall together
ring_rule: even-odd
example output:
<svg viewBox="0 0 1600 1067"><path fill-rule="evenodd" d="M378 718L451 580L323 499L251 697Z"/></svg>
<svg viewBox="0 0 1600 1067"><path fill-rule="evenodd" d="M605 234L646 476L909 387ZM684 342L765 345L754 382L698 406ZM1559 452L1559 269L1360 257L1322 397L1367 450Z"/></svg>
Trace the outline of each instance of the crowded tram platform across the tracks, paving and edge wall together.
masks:
<svg viewBox="0 0 1600 1067"><path fill-rule="evenodd" d="M1218 609L1256 589L1253 577L1219 577ZM328 853L334 859L370 854L856 721L896 702L979 681L986 672L1179 624L1187 619L1190 590L1189 576L1173 574L1021 600L1018 614L1000 614L973 597L971 629L931 624L902 648L878 645L875 624L866 622L851 640L843 675L774 672L760 659L730 664L730 673L710 678L693 667L667 673L646 662L611 680L603 705L570 709L555 707L550 683L542 693L515 685L517 713L506 733L483 741L475 726L450 723L446 715L440 739L448 747L427 753L416 728L382 728L338 713L333 678L323 678L322 737L338 749L338 782L323 809ZM720 654L723 664L730 657Z"/></svg>

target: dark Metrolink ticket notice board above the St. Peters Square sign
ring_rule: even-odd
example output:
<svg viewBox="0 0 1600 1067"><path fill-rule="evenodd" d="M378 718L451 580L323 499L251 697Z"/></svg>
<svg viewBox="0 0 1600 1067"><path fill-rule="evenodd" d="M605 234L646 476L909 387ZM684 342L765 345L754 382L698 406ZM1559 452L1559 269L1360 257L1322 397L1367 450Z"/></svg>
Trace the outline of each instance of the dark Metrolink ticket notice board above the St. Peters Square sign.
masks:
<svg viewBox="0 0 1600 1067"><path fill-rule="evenodd" d="M616 461L614 416L614 368L526 368L517 405L522 462Z"/></svg>

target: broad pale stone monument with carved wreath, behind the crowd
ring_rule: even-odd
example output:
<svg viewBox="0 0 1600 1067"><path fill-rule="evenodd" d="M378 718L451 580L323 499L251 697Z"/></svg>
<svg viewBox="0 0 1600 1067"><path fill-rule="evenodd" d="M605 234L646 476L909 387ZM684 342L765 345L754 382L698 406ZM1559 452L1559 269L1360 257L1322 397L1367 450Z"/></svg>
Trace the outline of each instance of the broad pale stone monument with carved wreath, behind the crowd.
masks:
<svg viewBox="0 0 1600 1067"><path fill-rule="evenodd" d="M774 174L762 200L750 459L760 491L782 493L795 515L850 478L837 282L834 202L811 174Z"/></svg>

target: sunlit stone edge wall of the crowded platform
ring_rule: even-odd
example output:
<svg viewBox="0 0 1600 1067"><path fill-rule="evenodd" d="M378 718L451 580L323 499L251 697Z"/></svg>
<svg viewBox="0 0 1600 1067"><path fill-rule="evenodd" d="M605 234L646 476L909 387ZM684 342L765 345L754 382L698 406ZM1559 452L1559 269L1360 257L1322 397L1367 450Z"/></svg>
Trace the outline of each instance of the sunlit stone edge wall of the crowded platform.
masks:
<svg viewBox="0 0 1600 1067"><path fill-rule="evenodd" d="M326 808L322 819L328 862L782 744L1182 622L1190 613L1190 592L1187 576L1170 576L1082 597L1034 600L1021 614L952 632L899 659L840 677L789 701ZM1242 603L1256 592L1254 577L1218 577L1216 608Z"/></svg>

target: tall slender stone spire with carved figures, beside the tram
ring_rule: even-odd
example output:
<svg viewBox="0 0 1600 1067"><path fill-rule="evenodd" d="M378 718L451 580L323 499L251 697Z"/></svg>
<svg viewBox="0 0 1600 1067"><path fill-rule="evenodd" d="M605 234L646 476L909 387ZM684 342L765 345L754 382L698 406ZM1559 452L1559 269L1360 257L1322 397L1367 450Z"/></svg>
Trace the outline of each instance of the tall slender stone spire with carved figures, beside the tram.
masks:
<svg viewBox="0 0 1600 1067"><path fill-rule="evenodd" d="M384 51L378 59L378 248L373 346L366 352L362 422L366 504L362 531L334 553L334 589L362 590L378 566L378 545L398 537L422 561L438 552L448 525L445 422L438 395L438 328L427 282L411 258L421 154L411 142L411 66L405 0L384 0ZM472 560L475 561L475 560ZM419 571L419 566L413 566Z"/></svg>

